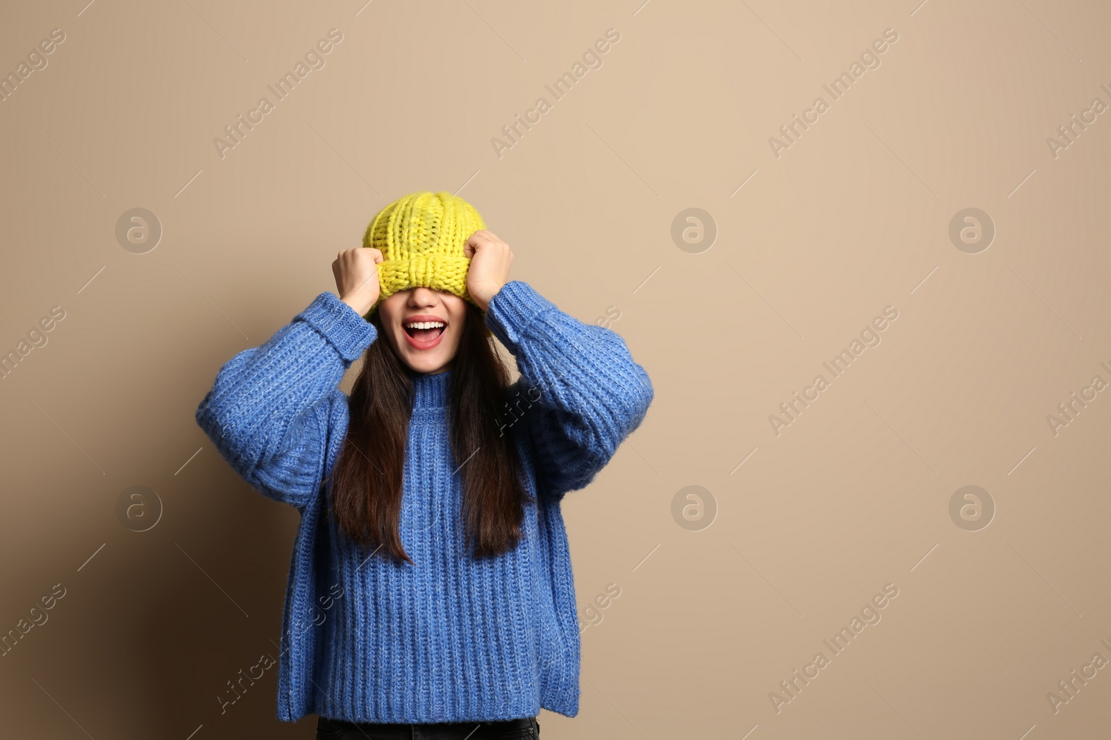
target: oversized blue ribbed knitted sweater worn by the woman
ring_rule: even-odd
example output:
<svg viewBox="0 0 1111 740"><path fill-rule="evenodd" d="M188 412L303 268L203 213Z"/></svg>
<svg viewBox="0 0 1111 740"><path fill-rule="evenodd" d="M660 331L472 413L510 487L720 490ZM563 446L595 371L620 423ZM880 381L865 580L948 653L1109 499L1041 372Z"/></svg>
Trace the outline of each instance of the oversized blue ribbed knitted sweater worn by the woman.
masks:
<svg viewBox="0 0 1111 740"><path fill-rule="evenodd" d="M464 539L450 371L413 379L400 535L414 562L371 556L339 536L322 483L348 428L338 386L377 331L334 294L321 293L264 344L228 361L200 403L197 423L228 464L301 514L282 617L279 719L578 713L579 626L560 503L641 424L652 384L620 336L559 311L527 283L507 283L486 324L521 372L510 388L520 401L502 423L514 427L538 500L526 506L519 546L493 559L472 559Z"/></svg>

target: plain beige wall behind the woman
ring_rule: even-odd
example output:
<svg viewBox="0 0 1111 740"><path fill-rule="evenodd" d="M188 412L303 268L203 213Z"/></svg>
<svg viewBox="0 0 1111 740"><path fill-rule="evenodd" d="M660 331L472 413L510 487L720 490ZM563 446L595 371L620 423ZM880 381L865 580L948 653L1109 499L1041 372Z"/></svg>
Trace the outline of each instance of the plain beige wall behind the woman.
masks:
<svg viewBox="0 0 1111 740"><path fill-rule="evenodd" d="M1111 382L1111 116L1047 145L1111 103L1103 3L86 1L0 9L0 70L66 33L0 103L0 351L66 312L0 381L0 631L66 589L0 658L0 733L313 736L316 717L274 719L277 668L219 711L274 651L298 515L193 413L416 190L467 197L563 311L619 311L655 387L565 499L597 624L580 713L542 712L544 738L1111 730L1107 668L1047 700L1111 660L1111 394L1047 422ZM331 28L327 65L221 159L213 138ZM553 101L609 28L602 67ZM881 65L777 159L769 138L888 28ZM163 229L144 254L114 235L133 207ZM670 235L688 207L717 224L701 253ZM978 254L948 235L965 207L995 226ZM769 415L889 305L882 343L777 436ZM116 511L136 485L163 507L141 533ZM672 517L691 485L717 507L700 530ZM965 485L997 507L979 531L950 518ZM769 693L885 584L882 620L777 713Z"/></svg>

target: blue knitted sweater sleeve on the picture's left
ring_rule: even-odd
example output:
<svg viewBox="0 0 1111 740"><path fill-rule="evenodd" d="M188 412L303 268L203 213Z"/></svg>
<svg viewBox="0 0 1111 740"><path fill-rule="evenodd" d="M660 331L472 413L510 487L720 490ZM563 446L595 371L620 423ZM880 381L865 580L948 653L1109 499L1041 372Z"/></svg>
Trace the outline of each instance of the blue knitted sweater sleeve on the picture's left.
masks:
<svg viewBox="0 0 1111 740"><path fill-rule="evenodd" d="M330 433L347 419L339 383L376 336L370 322L321 293L220 368L197 424L252 488L303 511L326 473Z"/></svg>

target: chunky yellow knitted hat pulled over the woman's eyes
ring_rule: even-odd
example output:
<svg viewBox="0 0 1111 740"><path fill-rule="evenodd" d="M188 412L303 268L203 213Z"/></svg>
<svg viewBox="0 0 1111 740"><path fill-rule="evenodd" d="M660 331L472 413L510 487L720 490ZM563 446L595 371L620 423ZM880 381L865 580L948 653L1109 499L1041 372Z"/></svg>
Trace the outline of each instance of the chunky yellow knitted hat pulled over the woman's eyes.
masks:
<svg viewBox="0 0 1111 740"><path fill-rule="evenodd" d="M448 192L411 193L387 205L362 237L363 246L382 252L378 301L422 286L473 302L467 292L471 260L463 256L463 247L480 229L486 223L479 212Z"/></svg>

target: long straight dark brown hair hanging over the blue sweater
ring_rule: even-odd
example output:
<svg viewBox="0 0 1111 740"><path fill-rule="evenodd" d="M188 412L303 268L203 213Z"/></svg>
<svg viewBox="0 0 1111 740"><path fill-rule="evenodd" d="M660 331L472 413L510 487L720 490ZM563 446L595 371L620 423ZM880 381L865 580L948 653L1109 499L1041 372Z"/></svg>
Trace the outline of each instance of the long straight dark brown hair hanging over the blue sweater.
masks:
<svg viewBox="0 0 1111 740"><path fill-rule="evenodd" d="M382 331L363 354L351 389L347 438L330 474L330 504L340 531L368 550L384 549L412 562L401 544L406 442L412 415L412 376ZM524 520L524 489L514 435L497 418L508 401L509 371L498 356L481 310L467 303L459 348L451 364L452 468L463 481L462 521L476 558L517 547ZM510 432L512 428L510 428Z"/></svg>

